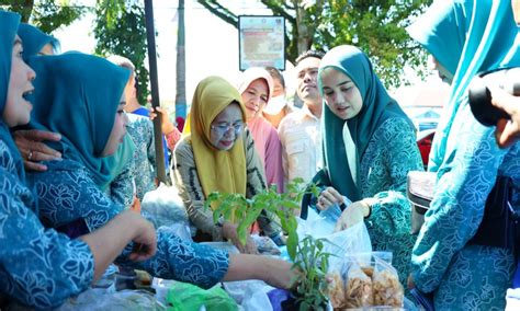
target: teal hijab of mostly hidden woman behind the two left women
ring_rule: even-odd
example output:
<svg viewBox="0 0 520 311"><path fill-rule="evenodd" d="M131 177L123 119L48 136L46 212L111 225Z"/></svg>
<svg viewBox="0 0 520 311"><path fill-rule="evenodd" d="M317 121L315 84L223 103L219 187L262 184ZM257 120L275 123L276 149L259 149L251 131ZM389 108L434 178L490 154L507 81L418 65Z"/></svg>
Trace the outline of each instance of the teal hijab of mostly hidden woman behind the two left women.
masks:
<svg viewBox="0 0 520 311"><path fill-rule="evenodd" d="M37 55L39 50L46 45L52 44L54 49L59 50L59 41L37 27L21 23L18 28L18 35L23 42L23 59L27 61L31 56Z"/></svg>

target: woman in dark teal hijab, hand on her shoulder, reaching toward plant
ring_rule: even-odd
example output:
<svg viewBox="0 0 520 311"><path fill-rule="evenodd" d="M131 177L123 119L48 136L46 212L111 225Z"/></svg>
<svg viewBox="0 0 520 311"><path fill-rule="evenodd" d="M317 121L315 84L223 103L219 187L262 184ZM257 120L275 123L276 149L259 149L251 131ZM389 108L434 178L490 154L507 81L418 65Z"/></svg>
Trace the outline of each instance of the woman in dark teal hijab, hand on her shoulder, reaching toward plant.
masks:
<svg viewBox="0 0 520 311"><path fill-rule="evenodd" d="M74 221L83 223L87 231L95 230L124 209L100 185L111 174L103 158L106 138L111 130L118 130L115 141L121 142L126 131L123 90L129 71L80 53L36 56L30 59L30 66L43 78L34 81L30 126L61 134L59 143L52 147L61 152L63 161L47 162L46 172L29 176L38 195L39 215L52 227ZM124 116L123 126L117 123L120 116ZM159 228L157 235L157 254L152 258L137 264L129 262L129 249L126 249L116 263L204 288L223 279L259 278L281 287L290 284L287 262L258 255L229 255L207 245L181 241L168 228Z"/></svg>

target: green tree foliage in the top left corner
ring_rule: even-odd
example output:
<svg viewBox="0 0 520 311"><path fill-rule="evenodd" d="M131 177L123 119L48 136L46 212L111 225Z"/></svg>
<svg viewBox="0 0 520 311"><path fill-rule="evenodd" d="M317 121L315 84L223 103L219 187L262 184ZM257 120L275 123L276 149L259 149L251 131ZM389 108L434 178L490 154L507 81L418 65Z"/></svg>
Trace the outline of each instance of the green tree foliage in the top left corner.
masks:
<svg viewBox="0 0 520 311"><path fill-rule="evenodd" d="M31 23L47 34L61 25L70 25L88 10L68 0L0 0L0 9L20 13L22 22Z"/></svg>

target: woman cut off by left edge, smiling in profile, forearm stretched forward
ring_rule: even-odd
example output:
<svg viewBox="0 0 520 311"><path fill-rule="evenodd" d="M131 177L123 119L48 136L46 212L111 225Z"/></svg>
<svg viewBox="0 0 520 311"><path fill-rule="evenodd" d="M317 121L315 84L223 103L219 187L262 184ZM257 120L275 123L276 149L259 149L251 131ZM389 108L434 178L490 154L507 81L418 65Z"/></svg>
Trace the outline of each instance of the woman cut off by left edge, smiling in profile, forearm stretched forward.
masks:
<svg viewBox="0 0 520 311"><path fill-rule="evenodd" d="M152 226L131 211L77 240L39 222L9 133L30 119L26 95L35 77L22 60L19 22L20 15L0 10L0 309L10 310L11 303L50 309L88 289L132 240L149 250L132 256L140 260L154 254L156 240ZM104 243L108 239L112 243Z"/></svg>

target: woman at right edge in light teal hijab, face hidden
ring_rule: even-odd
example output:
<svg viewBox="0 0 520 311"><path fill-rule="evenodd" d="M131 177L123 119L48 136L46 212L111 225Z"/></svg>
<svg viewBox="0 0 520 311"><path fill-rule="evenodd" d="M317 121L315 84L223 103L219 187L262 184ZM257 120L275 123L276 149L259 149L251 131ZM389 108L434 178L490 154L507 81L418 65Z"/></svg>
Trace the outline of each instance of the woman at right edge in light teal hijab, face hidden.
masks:
<svg viewBox="0 0 520 311"><path fill-rule="evenodd" d="M433 293L437 309L502 310L513 254L468 241L497 175L511 176L518 188L520 146L498 148L494 128L473 117L467 90L477 73L520 66L511 2L437 1L408 32L453 77L430 153L437 188L414 246L412 280L419 290ZM512 206L518 207L517 194Z"/></svg>

